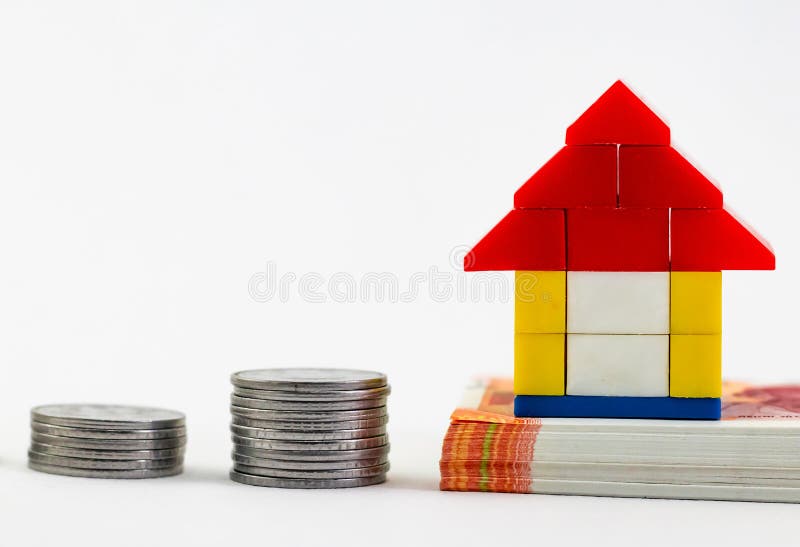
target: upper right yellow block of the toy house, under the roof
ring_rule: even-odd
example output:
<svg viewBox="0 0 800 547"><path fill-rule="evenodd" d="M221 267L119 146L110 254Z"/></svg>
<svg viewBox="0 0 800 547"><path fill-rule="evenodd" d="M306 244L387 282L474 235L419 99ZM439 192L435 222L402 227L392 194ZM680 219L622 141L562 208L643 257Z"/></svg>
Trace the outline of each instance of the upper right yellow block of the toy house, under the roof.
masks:
<svg viewBox="0 0 800 547"><path fill-rule="evenodd" d="M670 333L722 333L722 272L672 272Z"/></svg>

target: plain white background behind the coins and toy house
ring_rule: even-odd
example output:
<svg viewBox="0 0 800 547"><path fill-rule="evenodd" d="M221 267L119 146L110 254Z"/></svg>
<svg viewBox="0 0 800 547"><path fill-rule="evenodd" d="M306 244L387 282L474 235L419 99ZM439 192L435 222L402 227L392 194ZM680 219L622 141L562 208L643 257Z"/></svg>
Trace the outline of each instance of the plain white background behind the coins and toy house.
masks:
<svg viewBox="0 0 800 547"><path fill-rule="evenodd" d="M259 303L248 282L273 261L401 287L436 266L456 283L451 251L623 78L775 248L776 272L725 276L726 376L798 380L799 29L791 2L4 0L0 544L794 535L793 506L441 493L462 386L512 373L510 303L426 287L406 303L308 303L296 284ZM284 364L389 374L387 485L227 480L228 375ZM26 470L29 408L61 401L185 411L187 472Z"/></svg>

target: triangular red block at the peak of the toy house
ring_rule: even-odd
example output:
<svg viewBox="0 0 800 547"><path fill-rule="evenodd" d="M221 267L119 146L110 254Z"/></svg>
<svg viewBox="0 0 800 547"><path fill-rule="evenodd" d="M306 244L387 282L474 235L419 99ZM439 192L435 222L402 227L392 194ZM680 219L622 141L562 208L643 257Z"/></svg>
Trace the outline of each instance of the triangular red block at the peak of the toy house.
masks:
<svg viewBox="0 0 800 547"><path fill-rule="evenodd" d="M621 81L567 128L571 144L669 144L669 127Z"/></svg>

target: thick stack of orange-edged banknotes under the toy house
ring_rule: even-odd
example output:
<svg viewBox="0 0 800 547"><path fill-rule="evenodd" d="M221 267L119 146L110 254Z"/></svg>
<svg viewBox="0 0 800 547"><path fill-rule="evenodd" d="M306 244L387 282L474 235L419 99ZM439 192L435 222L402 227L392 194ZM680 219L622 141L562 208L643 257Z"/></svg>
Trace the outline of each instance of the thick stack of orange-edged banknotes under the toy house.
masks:
<svg viewBox="0 0 800 547"><path fill-rule="evenodd" d="M725 383L720 421L515 418L510 379L453 412L441 489L800 502L800 386Z"/></svg>

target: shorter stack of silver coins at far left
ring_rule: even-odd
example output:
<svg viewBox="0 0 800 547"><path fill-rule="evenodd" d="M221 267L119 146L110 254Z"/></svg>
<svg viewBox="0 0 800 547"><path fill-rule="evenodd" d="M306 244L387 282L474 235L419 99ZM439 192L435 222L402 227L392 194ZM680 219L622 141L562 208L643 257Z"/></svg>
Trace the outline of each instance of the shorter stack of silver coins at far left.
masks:
<svg viewBox="0 0 800 547"><path fill-rule="evenodd" d="M183 470L186 421L173 410L46 405L31 411L28 466L73 477L147 479Z"/></svg>

